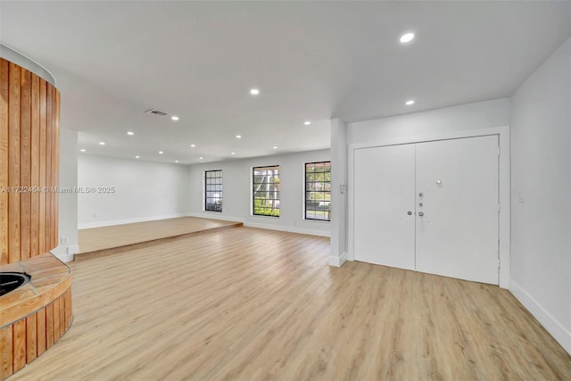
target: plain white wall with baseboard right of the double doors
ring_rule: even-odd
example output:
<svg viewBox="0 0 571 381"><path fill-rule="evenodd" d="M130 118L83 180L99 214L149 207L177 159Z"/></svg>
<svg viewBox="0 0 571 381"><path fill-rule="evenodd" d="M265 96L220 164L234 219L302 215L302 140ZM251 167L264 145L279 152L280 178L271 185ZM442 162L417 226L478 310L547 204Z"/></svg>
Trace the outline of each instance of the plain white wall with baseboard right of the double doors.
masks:
<svg viewBox="0 0 571 381"><path fill-rule="evenodd" d="M571 39L511 98L510 290L571 352Z"/></svg>

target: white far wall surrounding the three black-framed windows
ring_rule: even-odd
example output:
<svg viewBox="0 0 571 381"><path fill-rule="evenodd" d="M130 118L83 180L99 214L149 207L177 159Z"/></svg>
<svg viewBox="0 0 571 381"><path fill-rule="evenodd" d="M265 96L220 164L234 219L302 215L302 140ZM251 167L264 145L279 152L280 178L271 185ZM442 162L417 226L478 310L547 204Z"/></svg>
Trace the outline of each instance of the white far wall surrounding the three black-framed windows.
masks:
<svg viewBox="0 0 571 381"><path fill-rule="evenodd" d="M330 223L303 219L304 169L306 162L327 162L329 150L291 153L229 162L190 166L188 200L190 215L244 222L245 226L271 228L318 236L330 235ZM252 167L279 165L279 218L252 216ZM223 211L203 211L204 170L222 170ZM332 205L332 208L335 206Z"/></svg>

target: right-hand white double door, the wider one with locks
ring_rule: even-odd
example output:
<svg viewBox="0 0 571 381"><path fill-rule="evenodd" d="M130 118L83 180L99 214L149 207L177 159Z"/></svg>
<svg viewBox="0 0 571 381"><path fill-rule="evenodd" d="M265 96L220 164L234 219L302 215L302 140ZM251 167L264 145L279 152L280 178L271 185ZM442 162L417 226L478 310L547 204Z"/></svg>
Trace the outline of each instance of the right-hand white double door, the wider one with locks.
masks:
<svg viewBox="0 0 571 381"><path fill-rule="evenodd" d="M416 145L418 271L498 284L498 138Z"/></svg>

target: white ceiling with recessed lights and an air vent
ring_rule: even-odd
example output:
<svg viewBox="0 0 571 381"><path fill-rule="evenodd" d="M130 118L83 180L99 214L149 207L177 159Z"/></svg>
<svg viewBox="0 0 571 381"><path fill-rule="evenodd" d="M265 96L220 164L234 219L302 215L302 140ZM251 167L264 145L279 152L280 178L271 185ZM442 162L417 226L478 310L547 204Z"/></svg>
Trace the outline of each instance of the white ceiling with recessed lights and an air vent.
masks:
<svg viewBox="0 0 571 381"><path fill-rule="evenodd" d="M194 163L328 148L335 117L509 96L571 35L571 3L1 1L0 21L54 74L80 148Z"/></svg>

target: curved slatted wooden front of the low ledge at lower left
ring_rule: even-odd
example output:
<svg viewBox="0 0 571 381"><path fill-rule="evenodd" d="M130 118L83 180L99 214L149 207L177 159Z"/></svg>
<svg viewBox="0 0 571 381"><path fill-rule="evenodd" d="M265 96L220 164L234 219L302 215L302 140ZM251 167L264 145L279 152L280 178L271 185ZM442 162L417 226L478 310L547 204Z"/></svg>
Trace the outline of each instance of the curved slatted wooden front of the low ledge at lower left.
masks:
<svg viewBox="0 0 571 381"><path fill-rule="evenodd" d="M0 329L0 379L57 343L71 325L71 288L46 307Z"/></svg>

